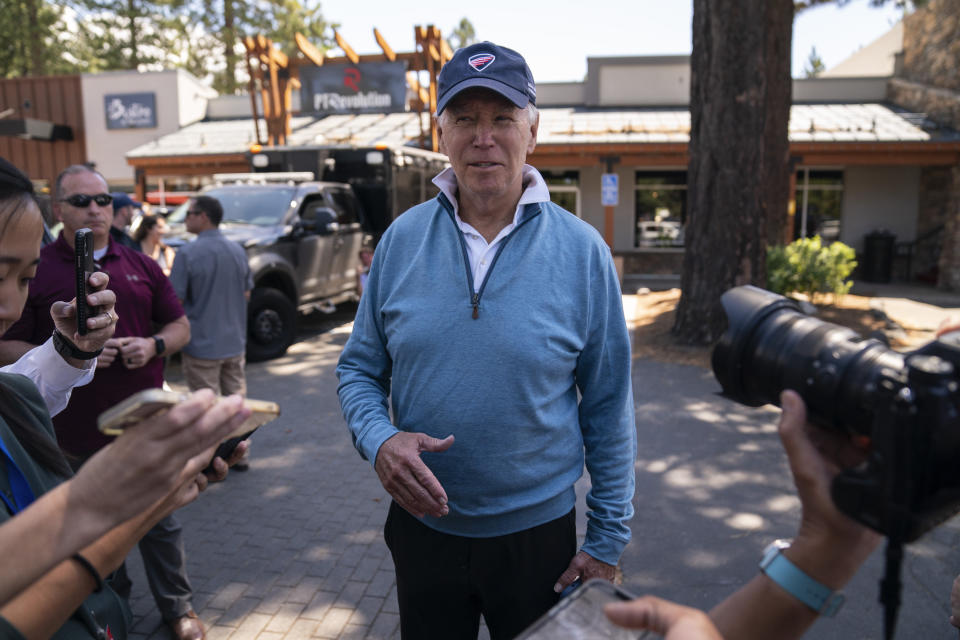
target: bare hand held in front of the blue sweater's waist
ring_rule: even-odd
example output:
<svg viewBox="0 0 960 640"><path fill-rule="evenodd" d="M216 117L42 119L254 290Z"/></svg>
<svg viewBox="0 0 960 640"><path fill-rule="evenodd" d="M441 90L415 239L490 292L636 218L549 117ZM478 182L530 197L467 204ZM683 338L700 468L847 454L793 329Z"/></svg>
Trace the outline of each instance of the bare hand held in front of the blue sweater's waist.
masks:
<svg viewBox="0 0 960 640"><path fill-rule="evenodd" d="M420 459L424 451L446 451L453 436L443 440L425 433L401 431L380 445L374 469L380 483L401 507L417 518L431 515L441 518L450 512L447 492Z"/></svg>

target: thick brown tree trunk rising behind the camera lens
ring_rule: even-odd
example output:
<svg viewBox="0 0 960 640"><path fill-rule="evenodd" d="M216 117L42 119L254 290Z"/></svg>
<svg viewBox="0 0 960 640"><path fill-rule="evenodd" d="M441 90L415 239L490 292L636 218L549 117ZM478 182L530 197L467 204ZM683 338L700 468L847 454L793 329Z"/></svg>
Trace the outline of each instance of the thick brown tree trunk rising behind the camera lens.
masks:
<svg viewBox="0 0 960 640"><path fill-rule="evenodd" d="M715 342L721 294L763 286L767 245L781 241L792 23L792 0L694 0L680 342Z"/></svg>

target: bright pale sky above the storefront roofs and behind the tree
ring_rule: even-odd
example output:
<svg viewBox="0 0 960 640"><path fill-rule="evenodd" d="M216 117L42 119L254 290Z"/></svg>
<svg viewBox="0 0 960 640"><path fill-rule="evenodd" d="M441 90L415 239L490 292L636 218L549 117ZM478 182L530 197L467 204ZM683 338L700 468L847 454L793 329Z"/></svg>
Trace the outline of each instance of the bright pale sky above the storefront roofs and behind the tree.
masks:
<svg viewBox="0 0 960 640"><path fill-rule="evenodd" d="M844 7L821 5L794 22L792 69L795 77L816 47L829 69L873 42L901 17L888 2L876 9L869 0ZM518 50L537 82L581 81L588 57L689 54L692 0L322 0L327 21L357 53L379 53L376 27L394 51L413 51L414 25L433 24L450 34L461 18L477 37ZM331 55L339 55L339 49Z"/></svg>

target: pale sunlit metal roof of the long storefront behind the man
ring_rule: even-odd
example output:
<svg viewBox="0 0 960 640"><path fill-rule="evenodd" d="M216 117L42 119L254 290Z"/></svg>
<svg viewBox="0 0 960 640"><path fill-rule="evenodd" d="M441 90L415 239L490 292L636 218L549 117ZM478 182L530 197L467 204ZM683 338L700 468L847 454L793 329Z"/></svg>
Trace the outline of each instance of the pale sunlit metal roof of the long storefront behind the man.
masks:
<svg viewBox="0 0 960 640"><path fill-rule="evenodd" d="M419 120L419 121L418 121ZM259 121L261 139L266 125ZM791 142L933 142L956 141L953 130L931 129L923 114L884 104L797 104L790 111ZM415 144L426 114L389 113L291 118L287 146L347 144L402 146ZM256 142L253 120L210 120L188 125L127 152L128 158L244 153ZM690 112L686 108L540 110L538 145L686 143Z"/></svg>

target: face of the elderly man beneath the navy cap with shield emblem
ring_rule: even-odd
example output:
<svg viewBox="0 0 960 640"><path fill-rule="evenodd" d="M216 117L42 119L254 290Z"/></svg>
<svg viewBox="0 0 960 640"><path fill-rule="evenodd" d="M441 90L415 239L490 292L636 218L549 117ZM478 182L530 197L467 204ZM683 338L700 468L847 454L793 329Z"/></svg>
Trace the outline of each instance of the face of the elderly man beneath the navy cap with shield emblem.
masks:
<svg viewBox="0 0 960 640"><path fill-rule="evenodd" d="M461 195L483 198L522 191L527 154L537 143L538 122L488 89L468 89L455 97L438 123L440 150L450 158Z"/></svg>

